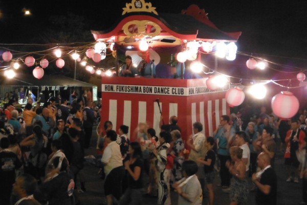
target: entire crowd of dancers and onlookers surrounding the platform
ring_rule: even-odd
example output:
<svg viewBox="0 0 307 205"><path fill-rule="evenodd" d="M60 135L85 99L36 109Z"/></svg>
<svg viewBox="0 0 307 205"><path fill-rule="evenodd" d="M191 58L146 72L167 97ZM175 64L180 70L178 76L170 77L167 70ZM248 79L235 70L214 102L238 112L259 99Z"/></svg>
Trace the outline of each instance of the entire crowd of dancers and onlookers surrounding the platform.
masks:
<svg viewBox="0 0 307 205"><path fill-rule="evenodd" d="M29 98L19 110L11 98L0 111L0 204L78 204L75 193L86 191L84 149L90 147L99 108L91 98L85 101L75 93L70 105L60 99L56 105L51 96L43 106L33 107ZM217 186L229 193L230 204L246 204L251 191L256 191L256 204L276 204L274 163L279 152L289 172L287 182L302 178L301 204L306 204L304 112L285 120L262 107L246 116L244 108L220 116L213 136L205 136L196 121L186 145L177 116L166 125L161 116L159 134L140 123L135 141L130 141L128 126L116 132L112 122L105 121L96 148L102 156L106 203L144 204L144 197L153 196L157 204L168 205L174 203L170 191L175 190L178 204L202 204L205 194L213 205L213 181L219 172Z"/></svg>

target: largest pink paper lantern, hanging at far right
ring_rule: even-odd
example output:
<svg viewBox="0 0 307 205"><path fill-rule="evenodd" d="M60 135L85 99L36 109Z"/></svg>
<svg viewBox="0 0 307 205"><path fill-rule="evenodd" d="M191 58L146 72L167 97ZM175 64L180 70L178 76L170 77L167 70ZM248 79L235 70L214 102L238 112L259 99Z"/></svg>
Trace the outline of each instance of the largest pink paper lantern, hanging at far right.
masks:
<svg viewBox="0 0 307 205"><path fill-rule="evenodd" d="M272 98L271 107L277 117L289 119L297 113L299 101L292 92L282 91Z"/></svg>

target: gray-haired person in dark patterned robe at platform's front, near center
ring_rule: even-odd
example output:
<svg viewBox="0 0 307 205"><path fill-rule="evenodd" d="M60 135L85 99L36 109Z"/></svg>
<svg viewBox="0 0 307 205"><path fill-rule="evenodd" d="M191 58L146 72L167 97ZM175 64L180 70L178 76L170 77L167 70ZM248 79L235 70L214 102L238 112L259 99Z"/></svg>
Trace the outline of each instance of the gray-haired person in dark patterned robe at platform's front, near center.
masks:
<svg viewBox="0 0 307 205"><path fill-rule="evenodd" d="M183 150L184 143L181 138L181 133L179 130L173 130L170 132L172 141L174 141L174 145L171 149L171 153L176 156L174 158L174 165L172 169L172 173L175 181L178 181L182 178L182 162L184 161Z"/></svg>

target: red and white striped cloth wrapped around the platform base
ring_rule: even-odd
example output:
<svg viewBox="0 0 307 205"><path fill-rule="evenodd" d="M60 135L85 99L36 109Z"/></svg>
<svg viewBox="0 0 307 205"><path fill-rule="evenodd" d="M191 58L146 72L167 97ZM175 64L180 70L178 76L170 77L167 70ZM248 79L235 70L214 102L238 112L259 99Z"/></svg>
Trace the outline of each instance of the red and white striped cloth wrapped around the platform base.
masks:
<svg viewBox="0 0 307 205"><path fill-rule="evenodd" d="M132 79L132 81L131 81ZM184 90L191 90L200 87L198 84L203 84L201 79L135 79L135 78L120 78L120 83L129 85L133 83L140 83L147 87L155 87L155 83L166 85L165 87L173 87L173 83L179 83L179 88ZM105 120L110 120L113 123L113 129L118 130L121 125L129 127L131 140L136 139L136 129L140 122L147 122L149 127L156 130L157 135L160 133L160 110L156 99L159 98L160 108L164 122L167 124L168 119L172 115L178 116L178 125L182 130L183 139L187 139L192 134L192 124L195 121L200 121L204 126L204 134L212 136L216 125L220 123L220 116L229 114L229 108L226 104L225 92L209 92L190 95L166 95L166 94L144 94L144 93L129 93L129 92L113 92L107 91L103 88L105 86L114 85L116 87L119 83L119 78L103 78L102 79L102 124ZM137 82L138 81L138 82ZM194 87L183 87L184 81L191 81ZM153 84L150 85L149 83ZM163 83L163 84L162 84ZM159 86L161 87L161 86Z"/></svg>

